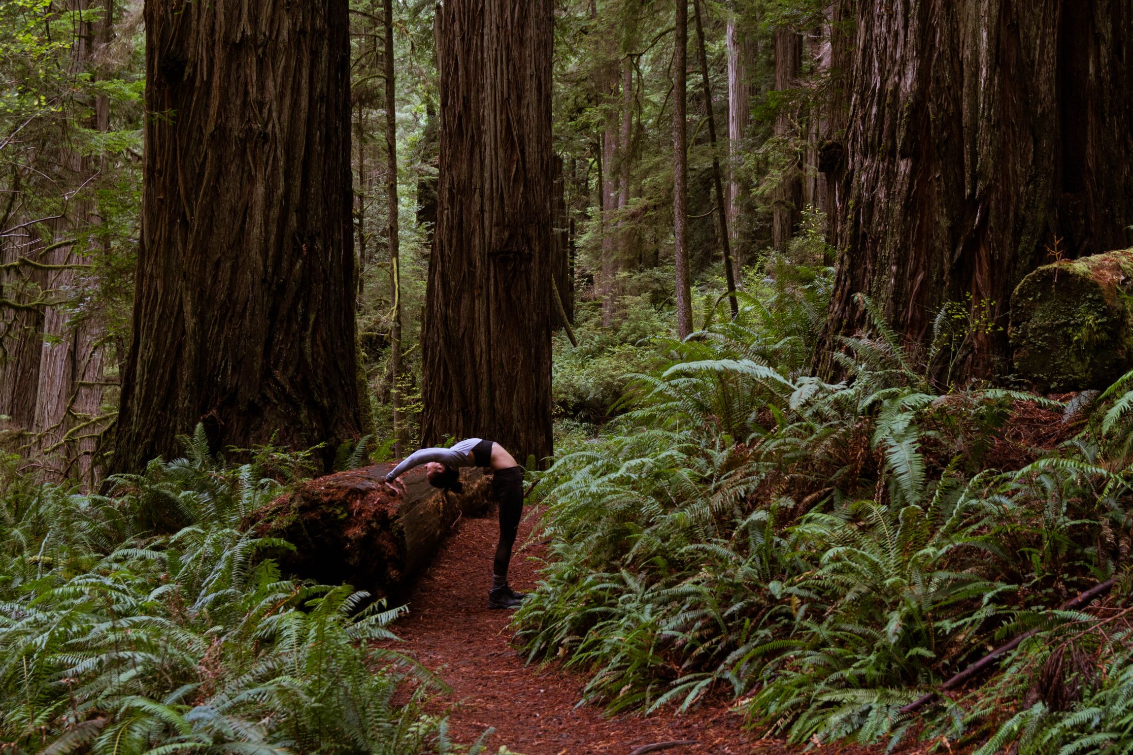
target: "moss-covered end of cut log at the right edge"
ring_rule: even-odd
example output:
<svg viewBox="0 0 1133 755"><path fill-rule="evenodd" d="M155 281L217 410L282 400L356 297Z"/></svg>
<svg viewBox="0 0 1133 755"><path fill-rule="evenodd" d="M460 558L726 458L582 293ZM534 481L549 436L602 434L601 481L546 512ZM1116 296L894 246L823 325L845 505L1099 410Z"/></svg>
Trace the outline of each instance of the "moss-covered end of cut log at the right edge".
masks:
<svg viewBox="0 0 1133 755"><path fill-rule="evenodd" d="M1105 388L1133 368L1133 249L1043 265L1011 302L1015 372L1041 391Z"/></svg>

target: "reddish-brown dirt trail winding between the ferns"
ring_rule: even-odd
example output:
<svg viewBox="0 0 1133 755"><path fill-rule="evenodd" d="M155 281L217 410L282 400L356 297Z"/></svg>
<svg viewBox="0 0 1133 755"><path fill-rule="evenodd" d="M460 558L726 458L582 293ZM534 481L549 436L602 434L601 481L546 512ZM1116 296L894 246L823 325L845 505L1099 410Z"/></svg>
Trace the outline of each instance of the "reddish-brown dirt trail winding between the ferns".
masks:
<svg viewBox="0 0 1133 755"><path fill-rule="evenodd" d="M529 511L525 514L518 543L525 542L534 522ZM454 741L475 741L494 727L488 753L505 745L523 755L629 755L641 745L681 739L697 744L664 752L726 755L780 749L767 740L757 745L757 735L742 731L740 717L726 707L649 718L606 718L595 707L576 707L583 679L555 668L525 666L509 643L510 614L485 607L496 533L494 513L458 522L417 582L409 616L391 627L406 641L398 650L410 652L452 686L452 694L440 703L452 706ZM509 575L516 590L535 585L536 567L528 557L537 555L539 546L517 548Z"/></svg>

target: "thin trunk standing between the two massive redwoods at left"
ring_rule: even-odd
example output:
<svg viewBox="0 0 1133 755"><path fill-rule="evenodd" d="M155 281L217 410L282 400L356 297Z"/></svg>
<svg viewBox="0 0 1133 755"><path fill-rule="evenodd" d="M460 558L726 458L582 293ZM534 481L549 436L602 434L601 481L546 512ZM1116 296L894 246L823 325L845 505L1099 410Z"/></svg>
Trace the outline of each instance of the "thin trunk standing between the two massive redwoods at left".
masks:
<svg viewBox="0 0 1133 755"><path fill-rule="evenodd" d="M393 0L385 0L385 196L390 217L390 291L393 323L390 325L390 397L393 403L393 453L401 456L406 418L401 397L401 258L398 237L398 110L393 68Z"/></svg>

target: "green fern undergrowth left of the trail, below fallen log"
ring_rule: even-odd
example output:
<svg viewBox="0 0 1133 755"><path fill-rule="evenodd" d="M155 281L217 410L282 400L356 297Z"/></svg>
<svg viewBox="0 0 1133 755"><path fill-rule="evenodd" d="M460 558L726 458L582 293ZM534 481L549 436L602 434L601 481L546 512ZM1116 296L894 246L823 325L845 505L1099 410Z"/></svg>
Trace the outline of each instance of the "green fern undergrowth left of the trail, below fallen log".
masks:
<svg viewBox="0 0 1133 755"><path fill-rule="evenodd" d="M286 580L258 554L287 543L239 527L305 455L225 467L203 435L185 440L186 458L112 478L109 496L0 462L3 752L451 750L423 710L443 684L372 645L402 609Z"/></svg>

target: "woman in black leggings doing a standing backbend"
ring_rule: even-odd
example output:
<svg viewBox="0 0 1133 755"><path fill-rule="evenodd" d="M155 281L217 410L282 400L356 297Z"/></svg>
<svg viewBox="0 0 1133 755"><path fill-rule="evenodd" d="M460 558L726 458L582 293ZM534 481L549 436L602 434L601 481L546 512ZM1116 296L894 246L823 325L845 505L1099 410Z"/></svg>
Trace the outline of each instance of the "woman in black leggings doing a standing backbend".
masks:
<svg viewBox="0 0 1133 755"><path fill-rule="evenodd" d="M497 443L468 438L451 448L421 448L406 457L385 475L393 484L398 477L415 466L425 465L429 484L460 492L460 467L491 466L492 494L500 504L500 543L492 561L492 590L488 591L488 608L516 608L526 593L514 592L508 585L508 564L511 563L511 547L519 530L519 516L523 509L523 467Z"/></svg>

